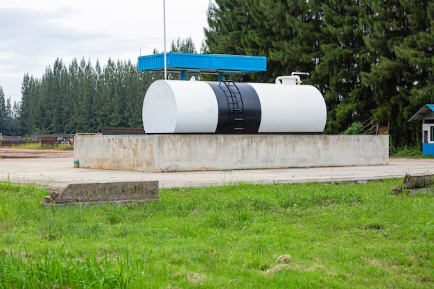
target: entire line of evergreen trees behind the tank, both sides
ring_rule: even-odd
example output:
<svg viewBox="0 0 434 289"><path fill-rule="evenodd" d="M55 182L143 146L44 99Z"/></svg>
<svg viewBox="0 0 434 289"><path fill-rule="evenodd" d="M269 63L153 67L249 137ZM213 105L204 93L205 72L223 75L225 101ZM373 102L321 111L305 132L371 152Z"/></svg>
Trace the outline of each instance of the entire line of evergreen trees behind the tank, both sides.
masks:
<svg viewBox="0 0 434 289"><path fill-rule="evenodd" d="M434 102L433 1L214 2L201 52L266 56L267 71L245 81L309 72L304 83L318 87L327 103L325 133L374 116L390 120L397 146L420 142L419 125L407 120ZM172 51L196 49L178 40ZM41 79L24 76L15 123L22 133L140 127L144 94L158 78L161 73L139 73L130 61L92 67L74 60L65 67L56 60Z"/></svg>

